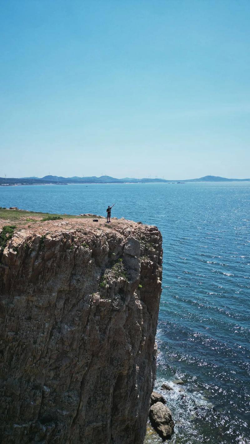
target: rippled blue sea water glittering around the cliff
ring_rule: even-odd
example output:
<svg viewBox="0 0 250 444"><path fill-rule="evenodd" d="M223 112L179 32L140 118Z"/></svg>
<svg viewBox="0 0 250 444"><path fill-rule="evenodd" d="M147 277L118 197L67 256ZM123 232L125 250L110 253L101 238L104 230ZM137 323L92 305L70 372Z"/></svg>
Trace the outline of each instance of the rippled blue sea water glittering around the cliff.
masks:
<svg viewBox="0 0 250 444"><path fill-rule="evenodd" d="M174 388L170 443L250 443L250 183L0 187L0 206L27 210L105 216L113 203L163 234L155 388Z"/></svg>

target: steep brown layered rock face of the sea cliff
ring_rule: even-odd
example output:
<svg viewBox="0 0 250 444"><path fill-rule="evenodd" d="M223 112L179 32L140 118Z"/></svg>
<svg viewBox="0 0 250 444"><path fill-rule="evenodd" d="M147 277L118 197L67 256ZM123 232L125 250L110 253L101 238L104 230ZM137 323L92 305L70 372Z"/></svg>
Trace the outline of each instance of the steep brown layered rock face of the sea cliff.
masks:
<svg viewBox="0 0 250 444"><path fill-rule="evenodd" d="M0 265L2 443L143 443L161 266L154 226L17 228Z"/></svg>

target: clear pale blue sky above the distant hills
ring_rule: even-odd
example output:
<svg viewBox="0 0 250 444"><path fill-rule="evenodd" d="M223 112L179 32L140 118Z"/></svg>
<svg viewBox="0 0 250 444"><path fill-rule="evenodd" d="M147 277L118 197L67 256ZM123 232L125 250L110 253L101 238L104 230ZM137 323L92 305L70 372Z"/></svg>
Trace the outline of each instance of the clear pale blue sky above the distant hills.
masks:
<svg viewBox="0 0 250 444"><path fill-rule="evenodd" d="M0 176L250 177L250 1L0 2Z"/></svg>

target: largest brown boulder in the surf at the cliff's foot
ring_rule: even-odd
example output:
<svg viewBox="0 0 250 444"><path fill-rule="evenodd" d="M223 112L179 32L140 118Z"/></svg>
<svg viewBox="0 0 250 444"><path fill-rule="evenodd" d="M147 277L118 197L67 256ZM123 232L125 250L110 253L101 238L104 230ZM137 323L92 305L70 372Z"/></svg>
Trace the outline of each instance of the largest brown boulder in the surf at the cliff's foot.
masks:
<svg viewBox="0 0 250 444"><path fill-rule="evenodd" d="M171 411L162 402L156 402L149 410L149 419L158 435L165 441L174 432L175 423Z"/></svg>

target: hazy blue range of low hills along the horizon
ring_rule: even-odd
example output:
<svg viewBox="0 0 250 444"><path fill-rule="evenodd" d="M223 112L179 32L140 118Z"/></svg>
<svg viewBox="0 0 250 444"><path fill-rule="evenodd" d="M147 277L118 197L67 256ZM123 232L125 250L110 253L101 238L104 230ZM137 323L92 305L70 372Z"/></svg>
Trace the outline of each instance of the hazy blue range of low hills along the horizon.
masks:
<svg viewBox="0 0 250 444"><path fill-rule="evenodd" d="M56 184L56 185L65 185L70 183L152 183L152 182L250 182L250 179L228 179L226 177L220 176L204 176L197 179L182 179L182 180L173 180L173 179L161 179L161 178L123 178L117 179L111 176L90 176L90 177L62 177L62 176L44 176L42 178L39 177L21 177L21 178L3 178L0 177L0 185L39 185L39 184Z"/></svg>

